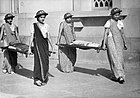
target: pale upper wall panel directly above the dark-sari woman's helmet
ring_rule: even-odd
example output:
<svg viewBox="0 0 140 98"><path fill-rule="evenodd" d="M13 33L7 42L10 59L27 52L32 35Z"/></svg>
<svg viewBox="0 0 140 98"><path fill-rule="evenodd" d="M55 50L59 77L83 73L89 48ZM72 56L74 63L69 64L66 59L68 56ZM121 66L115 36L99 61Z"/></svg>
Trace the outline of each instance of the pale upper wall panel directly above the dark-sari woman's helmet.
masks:
<svg viewBox="0 0 140 98"><path fill-rule="evenodd" d="M19 0L20 13L36 13L39 9L47 12L71 11L72 0Z"/></svg>

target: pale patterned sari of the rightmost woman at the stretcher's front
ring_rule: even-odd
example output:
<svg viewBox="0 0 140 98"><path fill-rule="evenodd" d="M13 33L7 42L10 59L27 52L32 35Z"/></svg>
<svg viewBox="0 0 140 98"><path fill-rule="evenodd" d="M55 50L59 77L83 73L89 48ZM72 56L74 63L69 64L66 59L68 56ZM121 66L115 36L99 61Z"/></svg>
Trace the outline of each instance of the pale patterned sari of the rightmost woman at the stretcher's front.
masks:
<svg viewBox="0 0 140 98"><path fill-rule="evenodd" d="M115 77L123 77L124 75L124 57L123 57L123 39L121 30L119 30L116 21L110 21L110 32L112 36L107 37L107 55L110 67Z"/></svg>

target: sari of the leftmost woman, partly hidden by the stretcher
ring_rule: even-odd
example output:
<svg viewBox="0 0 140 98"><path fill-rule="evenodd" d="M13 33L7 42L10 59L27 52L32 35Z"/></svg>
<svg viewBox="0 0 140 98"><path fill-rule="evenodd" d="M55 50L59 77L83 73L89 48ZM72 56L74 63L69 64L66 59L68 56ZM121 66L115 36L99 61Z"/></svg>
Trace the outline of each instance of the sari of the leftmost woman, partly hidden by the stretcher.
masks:
<svg viewBox="0 0 140 98"><path fill-rule="evenodd" d="M17 27L14 26L14 31L10 28L9 24L3 24L4 31L3 31L3 40L5 42L5 46L10 45L11 43L15 43L17 41ZM11 51L8 48L4 49L4 61L3 61L3 70L7 70L8 73L11 71L15 72L15 67L17 66L17 52Z"/></svg>

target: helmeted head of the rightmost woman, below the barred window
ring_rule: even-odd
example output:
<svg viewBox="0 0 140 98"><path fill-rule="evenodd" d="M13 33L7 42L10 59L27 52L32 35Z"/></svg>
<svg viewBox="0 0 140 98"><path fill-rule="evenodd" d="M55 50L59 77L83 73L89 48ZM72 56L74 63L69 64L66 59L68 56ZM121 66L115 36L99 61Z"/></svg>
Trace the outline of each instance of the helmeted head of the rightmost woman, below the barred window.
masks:
<svg viewBox="0 0 140 98"><path fill-rule="evenodd" d="M113 8L111 10L111 18L114 19L115 21L118 21L120 19L121 12L122 10L120 10L119 8Z"/></svg>

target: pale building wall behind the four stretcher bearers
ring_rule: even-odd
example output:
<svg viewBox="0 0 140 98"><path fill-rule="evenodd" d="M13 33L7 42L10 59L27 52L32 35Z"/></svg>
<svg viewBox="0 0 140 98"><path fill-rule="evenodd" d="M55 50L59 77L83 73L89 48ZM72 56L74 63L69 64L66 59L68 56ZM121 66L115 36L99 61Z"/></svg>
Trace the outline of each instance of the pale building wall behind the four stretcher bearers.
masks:
<svg viewBox="0 0 140 98"><path fill-rule="evenodd" d="M108 9L93 9L92 0L19 0L19 6L16 5L17 8L14 8L14 10L10 9L13 5L6 2L8 1L0 0L1 4L9 4L9 6L7 5L8 7L1 7L0 9L0 24L3 23L5 13L9 11L15 12L17 17L14 22L19 26L22 41L27 44L29 42L30 26L36 21L34 19L36 11L39 9L47 11L49 15L46 18L46 22L51 27L50 32L56 51L57 46L55 43L58 28L60 22L63 21L64 13L71 12L74 14L74 17L85 17L82 18L84 20L82 24L83 28L80 31L76 31L77 39L101 43L104 21L100 18L94 18L94 16L107 16L110 12ZM125 52L125 59L140 60L140 0L113 0L113 7L121 8L123 10L122 14L127 15L123 21L128 45L128 50ZM19 10L17 11L16 9ZM16 14L18 12L19 14ZM78 60L107 60L106 52L104 51L97 54L95 50L78 49L77 52Z"/></svg>

